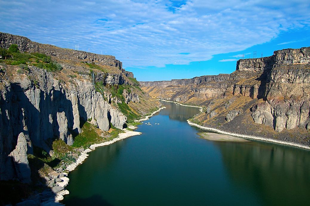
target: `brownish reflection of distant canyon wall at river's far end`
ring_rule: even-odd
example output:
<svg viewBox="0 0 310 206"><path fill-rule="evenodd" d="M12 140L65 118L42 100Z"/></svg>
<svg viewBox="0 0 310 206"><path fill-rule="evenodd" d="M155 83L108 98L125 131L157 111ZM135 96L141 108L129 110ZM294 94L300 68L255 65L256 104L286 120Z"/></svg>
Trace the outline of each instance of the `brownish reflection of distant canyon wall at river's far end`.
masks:
<svg viewBox="0 0 310 206"><path fill-rule="evenodd" d="M162 115L168 115L171 120L186 121L199 113L197 107L184 107L179 104L161 102L167 109L162 110Z"/></svg>

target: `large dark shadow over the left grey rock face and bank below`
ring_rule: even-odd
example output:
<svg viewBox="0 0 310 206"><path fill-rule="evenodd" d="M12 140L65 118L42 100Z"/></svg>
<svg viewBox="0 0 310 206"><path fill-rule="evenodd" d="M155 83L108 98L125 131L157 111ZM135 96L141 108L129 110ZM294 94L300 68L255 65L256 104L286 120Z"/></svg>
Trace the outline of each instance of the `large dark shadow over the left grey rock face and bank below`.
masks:
<svg viewBox="0 0 310 206"><path fill-rule="evenodd" d="M69 128L73 128L72 103L66 98L65 93L54 90L53 99L51 99L50 94L40 90L40 99L38 100L35 90L29 91L29 97L24 92L24 88L19 83L11 83L11 89L7 91L6 99L1 98L1 110L7 111L9 114L9 118L5 112L1 114L1 137L6 137L2 138L3 150L1 151L1 204L16 204L29 195L31 197L42 193L42 191L47 198L54 195L51 189L46 186L47 180L42 178L38 172L40 170L43 174L47 173L44 170L50 167L38 157L29 158L28 155L32 183L22 182L25 177L20 175L21 168L28 166L22 162L15 162L15 159L9 156L16 148L19 134L23 132L29 135L29 139L26 138L27 154L34 154L34 150L38 151L38 149L48 152L52 149L53 140L59 137L60 125L57 122L57 112L65 113L68 119L68 133L70 132ZM39 110L30 102L30 98ZM52 122L51 116L53 117ZM75 130L72 129L72 131ZM78 132L77 129L76 132ZM59 159L55 159L49 162L49 165L54 167L59 162Z"/></svg>

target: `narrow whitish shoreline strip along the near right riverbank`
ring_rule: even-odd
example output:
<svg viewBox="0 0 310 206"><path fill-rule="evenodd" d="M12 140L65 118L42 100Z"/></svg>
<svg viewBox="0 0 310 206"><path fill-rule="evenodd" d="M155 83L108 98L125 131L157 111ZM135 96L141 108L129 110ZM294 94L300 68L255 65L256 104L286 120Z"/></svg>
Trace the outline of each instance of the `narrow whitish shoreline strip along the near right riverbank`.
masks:
<svg viewBox="0 0 310 206"><path fill-rule="evenodd" d="M201 126L199 124L195 124L195 123L191 122L190 120L187 120L187 123L191 126L195 126L195 127L201 128L201 129L205 129L205 130L209 130L209 131L213 131L213 132L218 132L219 134L226 134L226 135L231 135L231 136L236 136L236 137L243 137L243 138L247 138L247 139L255 139L255 140L278 143L278 144L282 144L282 145L290 145L290 146L295 146L295 147L299 147L299 148L303 148L303 149L310 149L310 147L308 147L308 146L300 145L300 144L293 143L293 142L285 142L285 141L280 141L280 140L268 139L268 138L264 138L264 137L257 137L257 136L244 135L244 134L236 134L236 133L232 133L232 132L224 132L224 131L219 130L219 129L215 129L215 128L211 128L211 127L204 127L204 126Z"/></svg>

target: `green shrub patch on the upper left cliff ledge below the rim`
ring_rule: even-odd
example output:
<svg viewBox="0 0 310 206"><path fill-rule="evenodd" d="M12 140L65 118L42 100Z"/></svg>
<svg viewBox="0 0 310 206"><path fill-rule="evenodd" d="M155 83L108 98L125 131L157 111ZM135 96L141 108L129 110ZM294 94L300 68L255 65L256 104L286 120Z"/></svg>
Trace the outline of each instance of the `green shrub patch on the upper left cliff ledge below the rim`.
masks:
<svg viewBox="0 0 310 206"><path fill-rule="evenodd" d="M16 44L12 44L9 49L0 48L2 59L0 63L8 65L24 65L21 69L27 69L29 65L36 66L47 71L59 71L61 65L51 60L51 57L41 53L21 53ZM19 73L22 74L22 73Z"/></svg>

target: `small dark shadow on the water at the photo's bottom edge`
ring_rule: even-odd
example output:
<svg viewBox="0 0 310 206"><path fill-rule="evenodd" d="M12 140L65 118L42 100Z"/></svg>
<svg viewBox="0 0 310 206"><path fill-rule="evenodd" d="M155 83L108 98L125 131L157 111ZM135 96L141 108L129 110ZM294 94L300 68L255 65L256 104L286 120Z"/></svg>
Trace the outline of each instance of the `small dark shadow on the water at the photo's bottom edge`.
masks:
<svg viewBox="0 0 310 206"><path fill-rule="evenodd" d="M110 204L107 200L104 200L100 195L92 195L91 197L88 198L82 198L82 197L72 197L70 199L70 202L62 201L61 203L65 205L106 205L106 206L112 206L113 204Z"/></svg>

